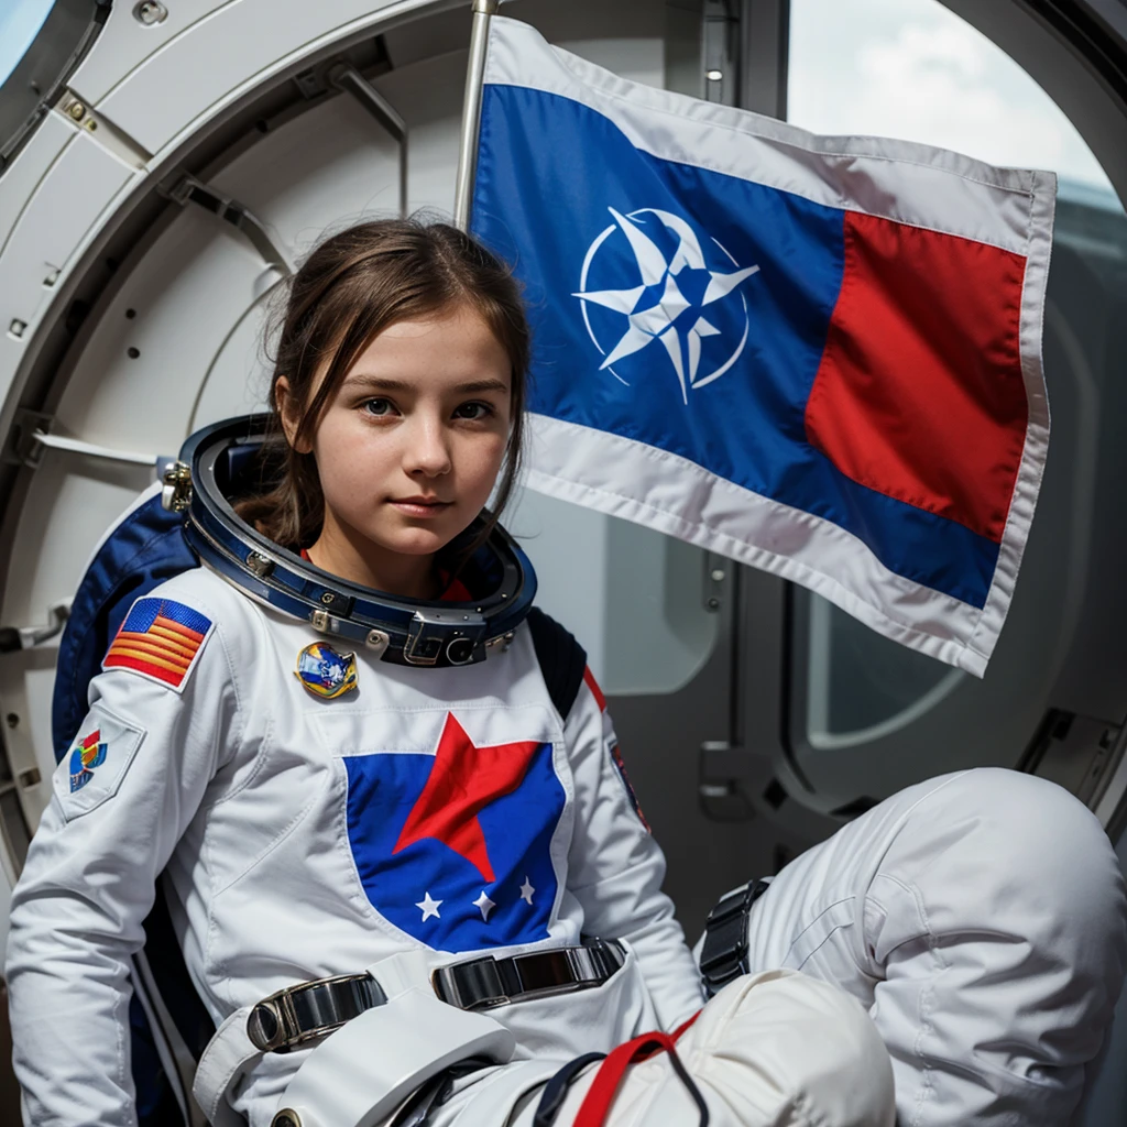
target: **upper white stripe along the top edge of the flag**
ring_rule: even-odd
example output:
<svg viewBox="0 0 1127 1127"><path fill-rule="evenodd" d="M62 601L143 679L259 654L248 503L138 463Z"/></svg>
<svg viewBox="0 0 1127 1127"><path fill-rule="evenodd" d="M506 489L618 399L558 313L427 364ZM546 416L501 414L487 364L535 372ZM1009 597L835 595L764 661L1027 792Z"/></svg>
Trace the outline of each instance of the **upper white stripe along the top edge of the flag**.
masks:
<svg viewBox="0 0 1127 1127"><path fill-rule="evenodd" d="M558 47L545 51L534 28L502 16L492 20L486 82L582 103L636 148L663 160L1019 255L1029 252L1031 197L1055 195L1053 172L994 168L909 141L818 136L772 117L640 86ZM663 118L660 131L654 130L655 115Z"/></svg>

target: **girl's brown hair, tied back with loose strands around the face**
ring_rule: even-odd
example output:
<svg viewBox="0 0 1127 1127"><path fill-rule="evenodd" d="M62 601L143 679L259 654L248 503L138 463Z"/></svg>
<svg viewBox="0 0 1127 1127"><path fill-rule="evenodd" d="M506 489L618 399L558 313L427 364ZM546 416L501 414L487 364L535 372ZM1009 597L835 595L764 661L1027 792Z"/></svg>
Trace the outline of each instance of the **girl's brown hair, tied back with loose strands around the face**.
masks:
<svg viewBox="0 0 1127 1127"><path fill-rule="evenodd" d="M512 429L494 511L471 549L485 541L513 492L524 435L530 335L512 272L469 234L425 219L389 219L350 227L321 242L290 279L270 379L267 442L284 471L268 492L241 500L236 512L263 535L293 551L320 533L325 498L312 454L295 445L312 436L349 367L388 326L464 303L489 327L512 364ZM321 385L314 376L328 357ZM302 407L294 445L285 440L277 381L285 376ZM283 449L284 447L284 449Z"/></svg>

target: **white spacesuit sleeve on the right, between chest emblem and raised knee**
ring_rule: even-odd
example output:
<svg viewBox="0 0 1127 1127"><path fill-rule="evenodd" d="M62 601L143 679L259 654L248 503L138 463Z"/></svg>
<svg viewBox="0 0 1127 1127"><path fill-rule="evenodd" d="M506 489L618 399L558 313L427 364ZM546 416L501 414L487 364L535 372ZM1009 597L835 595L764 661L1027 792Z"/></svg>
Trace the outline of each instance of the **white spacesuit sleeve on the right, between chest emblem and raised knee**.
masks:
<svg viewBox="0 0 1127 1127"><path fill-rule="evenodd" d="M701 1008L700 975L673 902L662 891L665 855L638 806L589 673L565 736L576 787L568 889L583 906L587 934L630 943L658 1019L673 1029Z"/></svg>

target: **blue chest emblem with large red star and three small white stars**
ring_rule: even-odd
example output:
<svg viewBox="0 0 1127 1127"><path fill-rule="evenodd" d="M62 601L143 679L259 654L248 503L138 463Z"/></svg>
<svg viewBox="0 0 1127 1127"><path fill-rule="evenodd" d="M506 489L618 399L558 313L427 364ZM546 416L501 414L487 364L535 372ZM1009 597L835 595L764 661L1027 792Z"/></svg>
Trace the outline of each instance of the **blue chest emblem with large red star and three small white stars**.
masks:
<svg viewBox="0 0 1127 1127"><path fill-rule="evenodd" d="M479 747L447 715L433 755L345 764L349 844L381 915L441 951L548 937L565 805L550 743Z"/></svg>

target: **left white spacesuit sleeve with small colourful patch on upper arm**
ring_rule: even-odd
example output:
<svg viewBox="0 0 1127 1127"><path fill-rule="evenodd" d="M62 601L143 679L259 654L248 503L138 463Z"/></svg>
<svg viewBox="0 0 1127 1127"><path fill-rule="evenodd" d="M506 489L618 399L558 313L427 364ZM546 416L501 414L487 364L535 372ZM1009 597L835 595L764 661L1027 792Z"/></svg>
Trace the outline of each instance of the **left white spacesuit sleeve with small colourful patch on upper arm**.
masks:
<svg viewBox="0 0 1127 1127"><path fill-rule="evenodd" d="M123 665L91 681L90 711L52 778L12 896L14 1063L36 1127L136 1122L130 959L157 877L241 719L222 635L210 618L192 621L208 629L179 684L176 662L134 663L156 676Z"/></svg>

